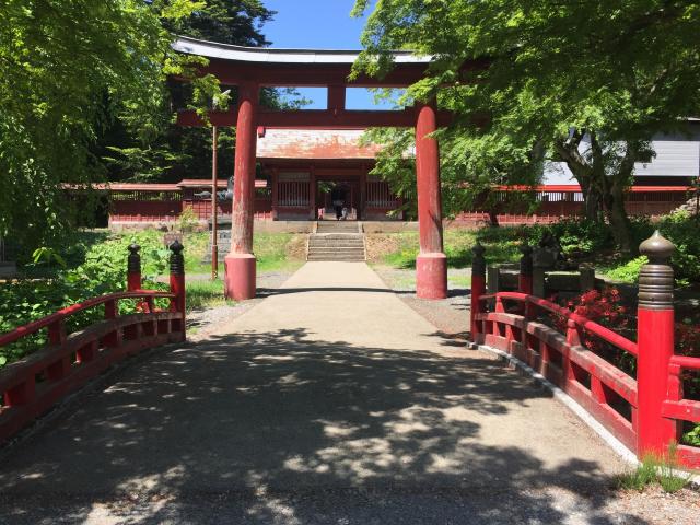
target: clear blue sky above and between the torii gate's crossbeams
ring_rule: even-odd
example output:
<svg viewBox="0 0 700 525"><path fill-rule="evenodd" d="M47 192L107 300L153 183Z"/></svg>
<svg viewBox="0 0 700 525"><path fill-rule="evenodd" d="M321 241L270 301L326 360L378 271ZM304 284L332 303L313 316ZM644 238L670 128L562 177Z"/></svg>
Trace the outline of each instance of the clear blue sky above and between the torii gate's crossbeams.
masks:
<svg viewBox="0 0 700 525"><path fill-rule="evenodd" d="M262 0L266 8L277 11L275 20L262 27L272 47L361 49L360 34L365 19L353 19L354 0ZM325 90L300 89L313 103L307 109L326 107ZM348 109L389 108L386 103L374 105L365 90L349 90Z"/></svg>

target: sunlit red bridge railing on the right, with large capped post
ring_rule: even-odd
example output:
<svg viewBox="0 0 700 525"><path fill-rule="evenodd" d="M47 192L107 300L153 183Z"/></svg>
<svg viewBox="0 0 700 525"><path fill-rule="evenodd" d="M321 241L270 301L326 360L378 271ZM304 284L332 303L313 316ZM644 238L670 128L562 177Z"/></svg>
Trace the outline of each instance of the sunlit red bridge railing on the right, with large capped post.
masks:
<svg viewBox="0 0 700 525"><path fill-rule="evenodd" d="M674 353L672 243L656 232L640 252L650 264L640 272L638 341L532 295L532 249L523 249L521 292L485 294L485 248L474 248L471 338L517 358L562 388L639 457L665 455L680 443L682 423L700 422L700 401L684 397L682 374L700 371L700 358ZM544 316L542 316L544 314ZM559 319L556 326L546 316ZM635 377L582 343L606 341L637 361ZM687 467L700 468L700 447L678 444Z"/></svg>

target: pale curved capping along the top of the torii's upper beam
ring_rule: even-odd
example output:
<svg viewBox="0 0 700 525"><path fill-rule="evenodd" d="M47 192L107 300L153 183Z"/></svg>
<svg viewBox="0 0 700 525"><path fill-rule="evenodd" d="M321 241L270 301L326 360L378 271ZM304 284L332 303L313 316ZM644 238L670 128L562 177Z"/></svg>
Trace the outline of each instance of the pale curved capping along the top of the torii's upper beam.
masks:
<svg viewBox="0 0 700 525"><path fill-rule="evenodd" d="M273 47L244 47L178 36L174 50L207 58L242 62L267 63L352 63L360 51L343 49L279 49ZM397 63L428 63L432 57L417 56L412 51L393 51Z"/></svg>

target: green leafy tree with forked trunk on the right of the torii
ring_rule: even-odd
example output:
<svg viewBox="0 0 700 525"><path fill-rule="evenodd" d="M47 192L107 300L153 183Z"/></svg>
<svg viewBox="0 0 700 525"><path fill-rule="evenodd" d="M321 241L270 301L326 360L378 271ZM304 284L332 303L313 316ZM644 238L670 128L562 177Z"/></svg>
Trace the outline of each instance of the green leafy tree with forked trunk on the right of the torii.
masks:
<svg viewBox="0 0 700 525"><path fill-rule="evenodd" d="M368 4L357 0L354 14ZM434 56L410 94L456 113L445 133L469 144L471 165L488 166L494 143L508 143L500 153L514 161L541 150L565 162L588 217L602 211L626 252L634 162L651 158L655 133L681 129L700 109L695 1L383 0L362 42L355 68L373 74L390 68L389 49Z"/></svg>

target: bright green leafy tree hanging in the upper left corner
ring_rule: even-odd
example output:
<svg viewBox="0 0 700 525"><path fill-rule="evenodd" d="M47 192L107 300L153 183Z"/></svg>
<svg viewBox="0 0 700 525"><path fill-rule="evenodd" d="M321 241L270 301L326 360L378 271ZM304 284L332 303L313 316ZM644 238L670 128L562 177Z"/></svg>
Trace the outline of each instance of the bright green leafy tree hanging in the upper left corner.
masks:
<svg viewBox="0 0 700 525"><path fill-rule="evenodd" d="M0 234L55 240L80 207L62 184L104 177L91 144L107 97L121 116L152 121L164 69L179 66L162 20L191 0L5 0L0 5Z"/></svg>

